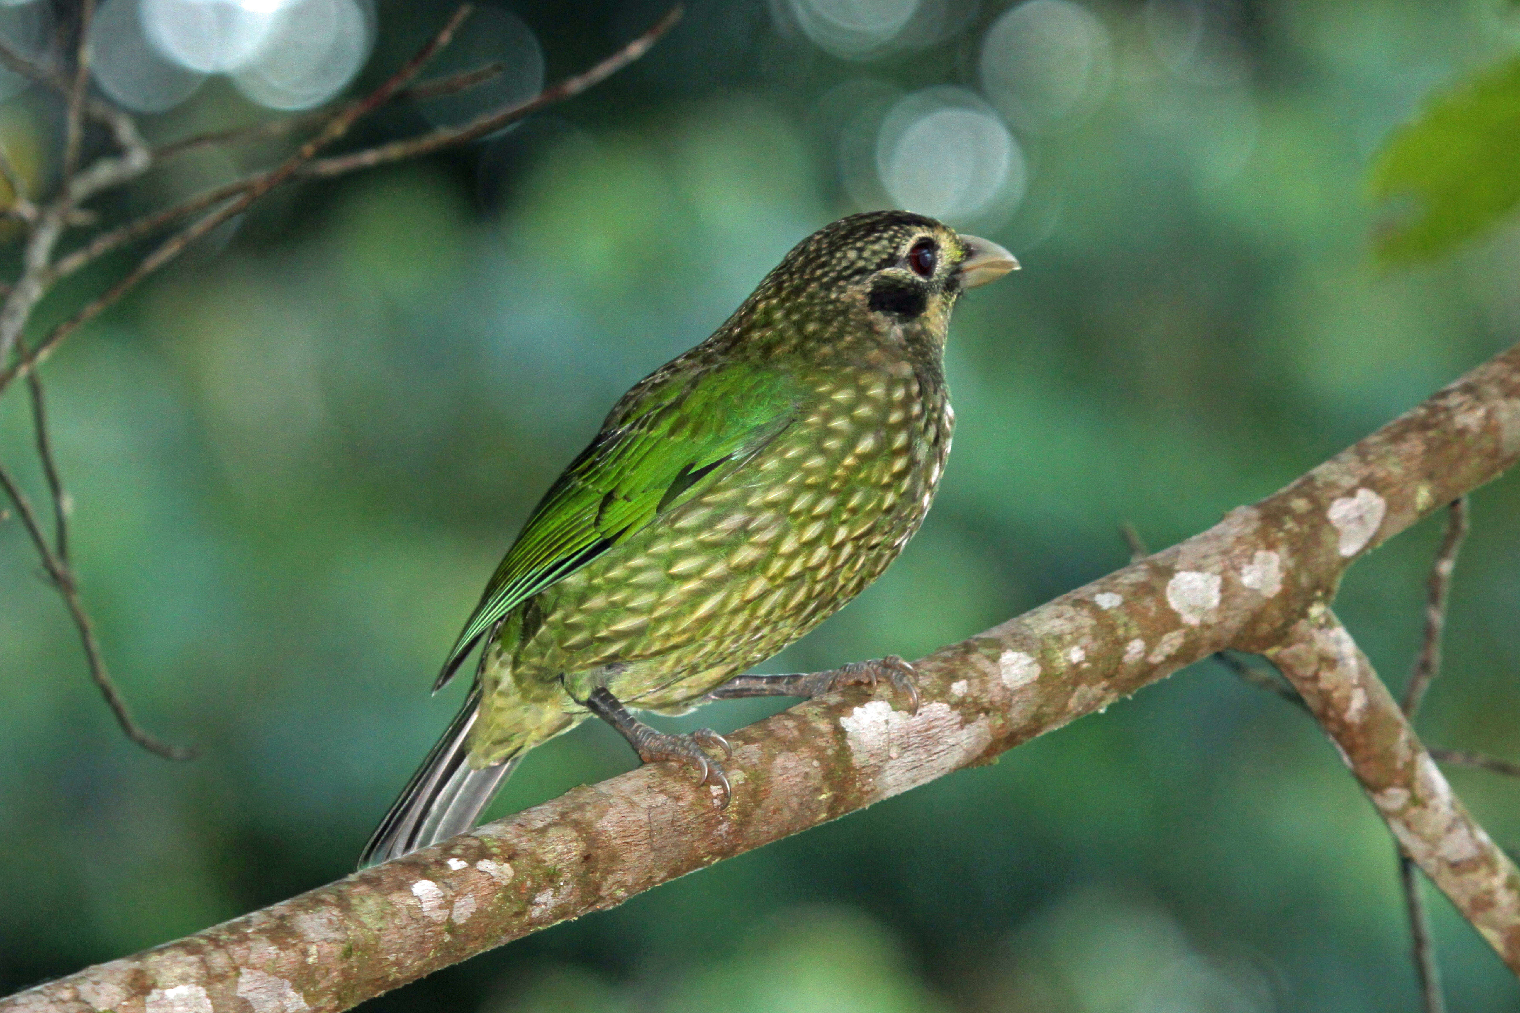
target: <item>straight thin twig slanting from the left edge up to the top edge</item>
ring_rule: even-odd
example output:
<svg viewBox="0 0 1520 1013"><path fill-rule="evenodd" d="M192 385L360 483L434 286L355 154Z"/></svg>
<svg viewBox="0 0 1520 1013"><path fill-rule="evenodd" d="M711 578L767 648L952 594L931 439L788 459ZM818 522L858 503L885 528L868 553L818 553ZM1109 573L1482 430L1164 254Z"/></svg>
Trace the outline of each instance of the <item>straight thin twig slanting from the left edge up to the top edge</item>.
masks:
<svg viewBox="0 0 1520 1013"><path fill-rule="evenodd" d="M38 343L35 349L32 349L29 354L23 352L23 355L14 366L6 369L5 372L0 372L0 393L5 392L5 389L11 384L12 380L15 380L17 375L33 369L38 363L47 358L49 354L52 354L52 351L59 345L59 342L62 342L76 330L79 330L81 327L97 317L103 310L114 305L117 299L120 299L123 295L135 289L137 284L143 281L143 278L149 276L150 273L154 273L155 270L172 261L175 257L182 254L185 248L188 248L192 243L195 243L207 232L213 231L223 222L228 222L233 217L246 211L254 200L264 196L266 193L278 187L281 182L293 176L296 170L299 170L301 166L309 163L312 156L315 156L316 152L319 152L324 146L331 144L344 134L347 134L348 129L362 115L389 102L391 96L394 96L409 80L412 80L412 77L421 73L423 67L438 53L438 50L441 50L444 46L448 46L448 43L453 41L454 32L459 29L459 24L470 15L471 9L473 9L471 5L468 3L459 5L454 14L438 32L438 35L435 35L427 43L427 46L424 46L416 53L416 56L409 59L398 71L391 74L391 77L378 88L375 88L366 99L345 108L342 112L328 120L327 126L324 126L316 137L302 144L293 155L290 155L290 158L284 159L284 163L281 163L277 169L263 173L258 182L248 187L240 197L223 204L220 208L211 211L190 228L184 229L182 232L178 232L176 235L161 243L154 252L144 257L137 264L137 267L128 272L125 278L117 281L102 295L96 296L94 299L87 302L82 308L74 311L73 316L70 316L62 323L55 327L47 334L47 337L44 337L41 343ZM0 337L3 337L3 334L0 334Z"/></svg>

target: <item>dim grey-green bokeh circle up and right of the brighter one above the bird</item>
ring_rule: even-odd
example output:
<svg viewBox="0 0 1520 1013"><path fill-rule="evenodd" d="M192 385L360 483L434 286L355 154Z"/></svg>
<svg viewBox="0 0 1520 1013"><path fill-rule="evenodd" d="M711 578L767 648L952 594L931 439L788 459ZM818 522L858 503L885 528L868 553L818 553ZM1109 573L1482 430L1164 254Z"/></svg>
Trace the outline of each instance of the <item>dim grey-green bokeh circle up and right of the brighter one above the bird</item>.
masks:
<svg viewBox="0 0 1520 1013"><path fill-rule="evenodd" d="M988 99L1015 128L1070 128L1108 91L1108 29L1070 0L1028 0L986 32L980 71Z"/></svg>

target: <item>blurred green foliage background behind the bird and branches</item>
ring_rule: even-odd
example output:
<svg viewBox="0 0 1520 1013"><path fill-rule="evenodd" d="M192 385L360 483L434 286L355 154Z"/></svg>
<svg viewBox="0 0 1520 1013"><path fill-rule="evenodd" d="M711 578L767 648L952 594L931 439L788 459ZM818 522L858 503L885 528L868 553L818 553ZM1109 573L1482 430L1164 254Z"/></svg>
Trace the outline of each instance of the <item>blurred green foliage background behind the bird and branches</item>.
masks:
<svg viewBox="0 0 1520 1013"><path fill-rule="evenodd" d="M695 3L646 61L521 129L281 193L50 363L108 659L143 723L202 756L169 764L123 740L23 532L0 524L0 990L350 872L458 705L462 685L429 699L429 682L559 468L796 240L860 210L838 87L974 88L977 39L1005 9L950 5L967 17L944 41L848 61L778 29L780 6ZM553 79L660 8L514 9ZM445 11L382 3L366 79ZM1242 73L1221 85L1167 65L1148 8L1088 11L1113 39L1107 93L1070 129L1015 131L1024 204L958 222L1024 269L956 311L938 503L898 563L771 670L976 633L1123 565L1120 521L1154 547L1193 535L1520 331L1520 231L1380 267L1365 191L1388 132L1512 53L1520 15L1496 0L1222 6ZM29 102L5 129L47 137ZM216 84L192 106L147 123L170 137L249 115ZM424 126L395 112L366 137ZM217 166L192 159L154 193ZM14 392L0 459L40 492L27 439ZM1520 756L1517 506L1514 475L1473 498L1430 743ZM1438 533L1426 522L1359 563L1338 604L1395 688ZM669 726L727 731L777 706ZM492 813L634 762L582 726L535 750ZM1452 781L1520 843L1520 785ZM1515 1008L1514 977L1427 896L1452 1008ZM1412 1010L1408 948L1392 844L1333 749L1202 664L997 765L368 1008Z"/></svg>

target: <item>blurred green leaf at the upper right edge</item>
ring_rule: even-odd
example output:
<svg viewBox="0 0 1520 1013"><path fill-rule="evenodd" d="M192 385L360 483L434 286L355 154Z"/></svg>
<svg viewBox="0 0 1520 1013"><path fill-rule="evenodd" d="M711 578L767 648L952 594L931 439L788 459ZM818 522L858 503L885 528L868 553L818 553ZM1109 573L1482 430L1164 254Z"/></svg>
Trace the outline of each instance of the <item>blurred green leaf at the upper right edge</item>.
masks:
<svg viewBox="0 0 1520 1013"><path fill-rule="evenodd" d="M1389 263L1444 254L1520 204L1520 58L1435 96L1394 131L1370 190L1398 205L1373 238Z"/></svg>

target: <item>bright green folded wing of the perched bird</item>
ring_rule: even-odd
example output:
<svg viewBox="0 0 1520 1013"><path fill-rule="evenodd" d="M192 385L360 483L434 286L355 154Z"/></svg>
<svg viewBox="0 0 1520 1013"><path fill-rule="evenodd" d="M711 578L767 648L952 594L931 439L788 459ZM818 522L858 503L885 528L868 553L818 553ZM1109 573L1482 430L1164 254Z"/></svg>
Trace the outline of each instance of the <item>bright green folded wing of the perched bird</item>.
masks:
<svg viewBox="0 0 1520 1013"><path fill-rule="evenodd" d="M646 384L613 410L529 516L448 652L435 690L515 604L719 481L724 465L775 439L798 406L795 383L771 371L655 374Z"/></svg>

